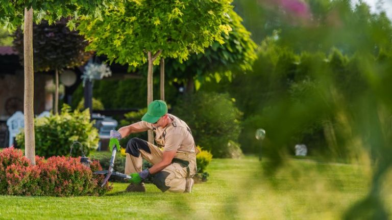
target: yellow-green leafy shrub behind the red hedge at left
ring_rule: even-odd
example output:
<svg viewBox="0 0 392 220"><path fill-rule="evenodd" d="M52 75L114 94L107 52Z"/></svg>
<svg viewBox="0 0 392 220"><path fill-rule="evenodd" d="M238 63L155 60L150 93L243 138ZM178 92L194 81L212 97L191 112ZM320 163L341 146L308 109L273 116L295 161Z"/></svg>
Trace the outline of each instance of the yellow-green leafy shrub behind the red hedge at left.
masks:
<svg viewBox="0 0 392 220"><path fill-rule="evenodd" d="M70 112L68 105L63 105L61 114L35 119L35 152L39 156L68 155L74 142L83 145L86 155L98 146L98 131L90 122L87 111ZM18 146L24 148L24 132L16 136ZM72 156L80 156L79 145L74 145Z"/></svg>

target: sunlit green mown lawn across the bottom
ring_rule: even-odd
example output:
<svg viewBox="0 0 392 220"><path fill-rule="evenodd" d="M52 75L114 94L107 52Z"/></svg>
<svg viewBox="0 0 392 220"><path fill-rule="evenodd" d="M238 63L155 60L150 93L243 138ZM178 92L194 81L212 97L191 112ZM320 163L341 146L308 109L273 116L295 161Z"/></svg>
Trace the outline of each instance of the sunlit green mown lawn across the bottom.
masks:
<svg viewBox="0 0 392 220"><path fill-rule="evenodd" d="M365 166L289 159L266 177L257 158L213 159L209 181L191 194L124 193L103 197L0 196L0 219L339 219L369 187ZM389 184L385 201L391 210Z"/></svg>

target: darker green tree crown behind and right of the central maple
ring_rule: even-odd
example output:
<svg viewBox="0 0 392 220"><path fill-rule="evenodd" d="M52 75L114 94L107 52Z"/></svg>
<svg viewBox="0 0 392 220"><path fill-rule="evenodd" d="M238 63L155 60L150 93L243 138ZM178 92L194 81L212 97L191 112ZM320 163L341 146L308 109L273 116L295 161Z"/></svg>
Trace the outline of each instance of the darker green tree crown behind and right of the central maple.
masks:
<svg viewBox="0 0 392 220"><path fill-rule="evenodd" d="M191 93L199 89L203 81L223 77L232 79L233 73L252 70L256 60L257 45L251 39L251 33L241 24L241 17L232 9L228 11L232 31L223 33L225 43L213 42L204 53L194 53L185 62L174 59L167 60L166 73L170 79L184 84L185 92Z"/></svg>

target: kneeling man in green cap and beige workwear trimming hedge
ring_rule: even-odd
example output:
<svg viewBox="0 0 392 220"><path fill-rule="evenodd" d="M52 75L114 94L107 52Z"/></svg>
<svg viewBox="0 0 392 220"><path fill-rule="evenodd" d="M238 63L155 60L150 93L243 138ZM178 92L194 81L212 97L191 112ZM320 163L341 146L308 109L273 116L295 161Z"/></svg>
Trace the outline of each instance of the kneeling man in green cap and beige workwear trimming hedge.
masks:
<svg viewBox="0 0 392 220"><path fill-rule="evenodd" d="M154 184L164 191L190 193L192 176L196 173L196 153L192 133L188 125L174 115L167 114L167 105L155 100L148 106L140 122L110 132L112 140L120 140L131 133L146 130L155 132L157 146L138 138L132 138L126 147L125 174L132 176L127 191L145 191L143 180L155 174ZM142 171L142 158L153 166Z"/></svg>

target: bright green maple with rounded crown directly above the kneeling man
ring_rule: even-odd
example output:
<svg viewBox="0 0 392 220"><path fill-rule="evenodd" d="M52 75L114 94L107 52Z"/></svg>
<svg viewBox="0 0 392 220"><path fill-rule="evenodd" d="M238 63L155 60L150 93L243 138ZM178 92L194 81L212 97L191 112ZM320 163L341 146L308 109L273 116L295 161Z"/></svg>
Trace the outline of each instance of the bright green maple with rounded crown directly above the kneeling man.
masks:
<svg viewBox="0 0 392 220"><path fill-rule="evenodd" d="M105 54L110 62L137 67L148 62L148 98L153 100L153 65L158 58L186 60L202 53L214 41L224 43L231 31L227 12L231 0L219 1L123 1L105 11L101 21L83 17L80 33L88 49ZM152 133L149 141L153 142Z"/></svg>

